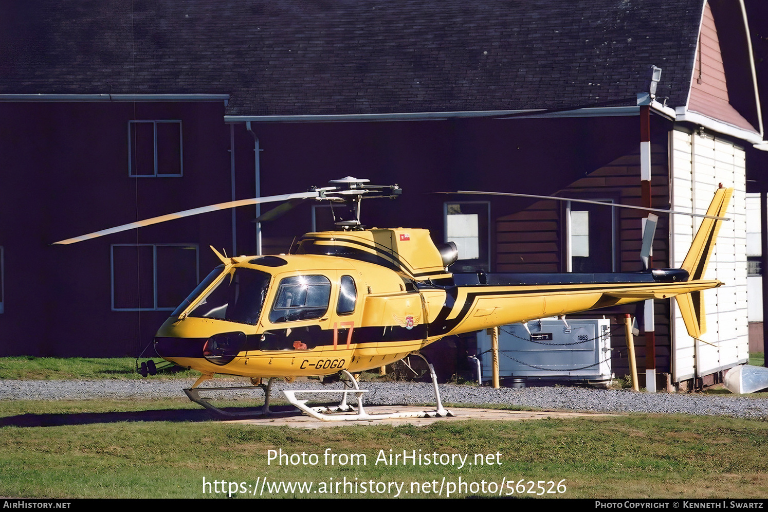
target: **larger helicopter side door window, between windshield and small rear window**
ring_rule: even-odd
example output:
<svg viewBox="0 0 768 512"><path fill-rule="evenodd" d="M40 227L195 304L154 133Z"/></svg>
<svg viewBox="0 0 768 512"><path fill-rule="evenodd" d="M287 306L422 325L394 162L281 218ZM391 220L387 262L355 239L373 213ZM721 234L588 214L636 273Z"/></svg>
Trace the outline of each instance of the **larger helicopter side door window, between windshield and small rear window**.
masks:
<svg viewBox="0 0 768 512"><path fill-rule="evenodd" d="M326 276L293 276L280 281L270 322L319 319L328 311L331 282Z"/></svg>

